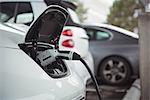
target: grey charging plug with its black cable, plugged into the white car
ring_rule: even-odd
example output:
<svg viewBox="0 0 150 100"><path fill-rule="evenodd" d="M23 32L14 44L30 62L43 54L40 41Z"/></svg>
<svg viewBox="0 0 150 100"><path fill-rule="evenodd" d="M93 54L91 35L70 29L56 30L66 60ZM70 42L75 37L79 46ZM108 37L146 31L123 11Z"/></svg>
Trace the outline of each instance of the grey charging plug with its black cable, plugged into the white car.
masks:
<svg viewBox="0 0 150 100"><path fill-rule="evenodd" d="M39 53L37 58L40 60L42 66L47 66L52 62L56 61L56 59L80 60L86 67L87 71L89 72L92 81L94 83L98 98L99 100L101 100L100 90L98 88L96 78L93 75L92 71L90 70L89 66L86 64L86 62L81 58L79 54L71 51L58 51L57 49L48 49L45 50L44 52L42 51L41 53Z"/></svg>

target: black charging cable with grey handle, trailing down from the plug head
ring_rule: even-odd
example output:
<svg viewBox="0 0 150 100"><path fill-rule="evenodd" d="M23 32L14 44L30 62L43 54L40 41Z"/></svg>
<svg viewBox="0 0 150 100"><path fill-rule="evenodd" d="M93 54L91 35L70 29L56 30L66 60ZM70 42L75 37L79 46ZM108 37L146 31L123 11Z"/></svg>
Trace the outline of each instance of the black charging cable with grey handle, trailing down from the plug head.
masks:
<svg viewBox="0 0 150 100"><path fill-rule="evenodd" d="M57 57L60 59L65 59L65 60L80 60L84 64L84 66L86 67L87 71L89 72L89 74L91 76L91 79L94 83L99 100L102 100L97 80L96 80L95 76L93 75L91 69L87 65L87 63L81 58L81 56L79 54L77 54L75 52L71 52L71 51L59 51L59 55Z"/></svg>

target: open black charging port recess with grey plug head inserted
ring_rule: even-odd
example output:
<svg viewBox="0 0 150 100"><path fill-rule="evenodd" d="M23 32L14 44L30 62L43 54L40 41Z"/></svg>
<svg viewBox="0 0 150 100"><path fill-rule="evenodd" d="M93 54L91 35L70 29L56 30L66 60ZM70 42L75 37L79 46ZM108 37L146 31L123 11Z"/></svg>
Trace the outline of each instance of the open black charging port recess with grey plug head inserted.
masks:
<svg viewBox="0 0 150 100"><path fill-rule="evenodd" d="M62 59L53 59L53 53L50 53L54 49L53 45L38 43L34 49L33 43L23 43L19 44L19 47L52 78L61 78L69 74Z"/></svg>

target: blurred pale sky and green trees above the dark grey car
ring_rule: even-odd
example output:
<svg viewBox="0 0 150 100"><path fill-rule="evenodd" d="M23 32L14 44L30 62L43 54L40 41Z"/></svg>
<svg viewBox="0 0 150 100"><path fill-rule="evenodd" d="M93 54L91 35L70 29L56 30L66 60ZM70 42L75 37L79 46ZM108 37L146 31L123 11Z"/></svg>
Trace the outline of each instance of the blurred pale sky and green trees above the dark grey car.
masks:
<svg viewBox="0 0 150 100"><path fill-rule="evenodd" d="M137 18L143 10L139 0L74 0L81 21L108 23L138 33Z"/></svg>

